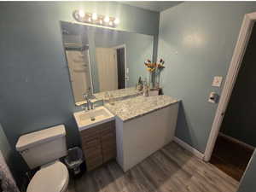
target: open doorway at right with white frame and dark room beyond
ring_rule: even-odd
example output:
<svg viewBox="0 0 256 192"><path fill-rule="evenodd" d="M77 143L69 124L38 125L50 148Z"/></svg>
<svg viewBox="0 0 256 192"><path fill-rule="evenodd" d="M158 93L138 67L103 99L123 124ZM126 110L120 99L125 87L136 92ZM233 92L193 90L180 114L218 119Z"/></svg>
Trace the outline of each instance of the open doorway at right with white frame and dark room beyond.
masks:
<svg viewBox="0 0 256 192"><path fill-rule="evenodd" d="M256 14L243 20L204 160L240 181L256 142Z"/></svg>

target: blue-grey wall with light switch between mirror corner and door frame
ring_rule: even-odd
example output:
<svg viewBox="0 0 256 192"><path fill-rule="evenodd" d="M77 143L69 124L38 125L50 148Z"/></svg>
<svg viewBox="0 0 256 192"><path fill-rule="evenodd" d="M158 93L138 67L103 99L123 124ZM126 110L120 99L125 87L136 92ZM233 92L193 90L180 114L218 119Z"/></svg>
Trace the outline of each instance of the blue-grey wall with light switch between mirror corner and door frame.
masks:
<svg viewBox="0 0 256 192"><path fill-rule="evenodd" d="M225 78L243 16L253 2L185 2L160 13L158 58L164 92L181 99L176 136L204 153L217 104L207 102L214 76Z"/></svg>

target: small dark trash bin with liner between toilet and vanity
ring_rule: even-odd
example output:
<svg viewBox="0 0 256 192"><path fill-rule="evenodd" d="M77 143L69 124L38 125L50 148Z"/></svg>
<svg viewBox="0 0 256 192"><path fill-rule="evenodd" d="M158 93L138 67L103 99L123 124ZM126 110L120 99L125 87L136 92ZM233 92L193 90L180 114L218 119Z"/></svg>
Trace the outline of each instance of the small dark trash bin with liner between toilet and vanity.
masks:
<svg viewBox="0 0 256 192"><path fill-rule="evenodd" d="M74 175L81 172L80 165L83 163L83 152L81 148L74 147L67 150L67 157L64 158L67 168L73 172Z"/></svg>

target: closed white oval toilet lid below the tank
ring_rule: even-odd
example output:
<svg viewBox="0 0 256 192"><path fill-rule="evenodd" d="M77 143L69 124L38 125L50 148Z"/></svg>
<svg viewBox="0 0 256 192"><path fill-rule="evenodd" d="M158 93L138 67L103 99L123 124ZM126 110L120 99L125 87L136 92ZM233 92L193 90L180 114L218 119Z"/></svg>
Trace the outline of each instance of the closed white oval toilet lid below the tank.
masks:
<svg viewBox="0 0 256 192"><path fill-rule="evenodd" d="M67 167L55 161L36 172L26 192L63 192L67 189L68 180Z"/></svg>

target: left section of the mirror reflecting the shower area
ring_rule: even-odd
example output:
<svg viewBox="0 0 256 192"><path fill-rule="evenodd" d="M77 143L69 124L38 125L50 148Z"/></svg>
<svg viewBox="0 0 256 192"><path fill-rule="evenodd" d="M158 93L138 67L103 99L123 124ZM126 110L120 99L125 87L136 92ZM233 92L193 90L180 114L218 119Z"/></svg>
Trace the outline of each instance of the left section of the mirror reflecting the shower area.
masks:
<svg viewBox="0 0 256 192"><path fill-rule="evenodd" d="M62 39L67 57L70 81L75 102L84 100L86 90L92 89L90 55L86 28L61 23Z"/></svg>

